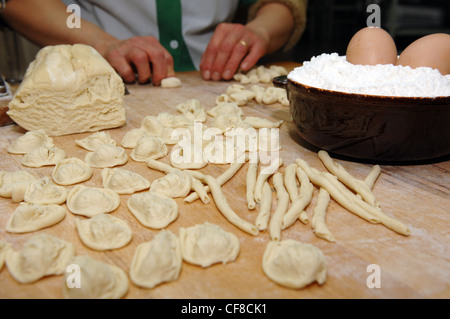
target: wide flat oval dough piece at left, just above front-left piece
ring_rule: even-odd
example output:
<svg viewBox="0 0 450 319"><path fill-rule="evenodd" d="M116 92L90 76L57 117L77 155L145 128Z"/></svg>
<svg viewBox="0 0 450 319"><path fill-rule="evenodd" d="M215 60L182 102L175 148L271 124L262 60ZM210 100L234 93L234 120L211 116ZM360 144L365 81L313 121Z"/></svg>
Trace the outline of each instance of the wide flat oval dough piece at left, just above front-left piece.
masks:
<svg viewBox="0 0 450 319"><path fill-rule="evenodd" d="M59 223L67 210L60 205L20 203L9 217L5 230L9 233L28 233Z"/></svg>

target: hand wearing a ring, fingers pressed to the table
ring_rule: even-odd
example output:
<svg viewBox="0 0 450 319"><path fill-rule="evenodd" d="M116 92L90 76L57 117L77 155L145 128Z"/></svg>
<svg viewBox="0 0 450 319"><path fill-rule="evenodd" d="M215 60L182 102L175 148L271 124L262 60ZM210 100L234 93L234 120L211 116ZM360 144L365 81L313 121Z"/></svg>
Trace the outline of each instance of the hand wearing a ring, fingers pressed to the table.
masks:
<svg viewBox="0 0 450 319"><path fill-rule="evenodd" d="M263 29L235 23L217 26L200 62L205 80L230 80L242 69L248 71L268 51L269 39Z"/></svg>

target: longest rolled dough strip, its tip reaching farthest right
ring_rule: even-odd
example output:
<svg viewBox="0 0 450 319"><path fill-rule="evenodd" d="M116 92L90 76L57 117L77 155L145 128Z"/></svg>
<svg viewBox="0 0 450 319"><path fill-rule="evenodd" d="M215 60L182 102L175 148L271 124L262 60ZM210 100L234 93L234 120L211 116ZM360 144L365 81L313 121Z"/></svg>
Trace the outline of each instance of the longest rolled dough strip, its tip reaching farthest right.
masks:
<svg viewBox="0 0 450 319"><path fill-rule="evenodd" d="M353 214L371 223L382 223L387 228L399 234L405 236L410 234L410 230L406 225L392 217L387 216L379 208L373 207L358 198L342 183L340 183L334 175L327 172L320 172L312 167L309 167L309 165L302 159L297 159L296 163L305 170L313 183L325 188L334 200Z"/></svg>

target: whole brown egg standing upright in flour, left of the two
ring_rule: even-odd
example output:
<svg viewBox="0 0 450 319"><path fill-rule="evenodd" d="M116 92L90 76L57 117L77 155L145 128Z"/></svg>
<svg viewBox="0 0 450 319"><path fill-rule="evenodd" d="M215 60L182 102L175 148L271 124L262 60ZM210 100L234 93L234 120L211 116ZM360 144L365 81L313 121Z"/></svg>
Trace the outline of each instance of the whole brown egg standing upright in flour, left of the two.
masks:
<svg viewBox="0 0 450 319"><path fill-rule="evenodd" d="M347 61L352 64L377 65L397 62L397 47L391 35L377 27L366 27L352 37L347 46Z"/></svg>

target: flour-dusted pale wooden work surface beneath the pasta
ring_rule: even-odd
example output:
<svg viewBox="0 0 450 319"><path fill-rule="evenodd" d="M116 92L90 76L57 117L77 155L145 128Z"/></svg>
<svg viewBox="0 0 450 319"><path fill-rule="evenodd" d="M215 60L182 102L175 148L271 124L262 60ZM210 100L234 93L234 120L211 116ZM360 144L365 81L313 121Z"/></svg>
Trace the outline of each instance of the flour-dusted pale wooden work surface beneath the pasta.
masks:
<svg viewBox="0 0 450 319"><path fill-rule="evenodd" d="M293 65L289 64L288 68ZM196 98L206 108L215 106L215 99L226 91L230 82L206 82L199 73L178 74L183 85L180 88L163 89L151 85L129 85L130 95L125 97L127 123L108 130L120 144L129 130L139 127L146 115L167 111L177 113L175 106ZM281 104L263 105L251 102L243 106L245 115L260 116L271 120L284 120L281 127L281 157L285 166L297 158L310 166L324 171L316 150L305 148L290 121L289 108ZM0 128L0 170L26 170L35 176L50 176L53 167L26 168L20 164L22 155L11 155L7 148L24 134L16 125ZM54 137L56 146L67 155L84 159L87 151L76 146L75 140L90 133ZM127 153L130 154L130 149ZM162 161L167 162L168 157ZM337 159L351 174L364 178L372 164ZM254 222L257 211L249 211L245 200L245 177L248 163L223 186L231 207L243 219ZM122 166L140 173L149 180L163 176L144 163L131 158ZM284 172L284 167L281 172ZM208 164L202 172L218 176L227 165ZM262 256L270 241L267 232L252 236L230 224L217 210L214 202L203 204L197 200L179 204L180 215L167 229L178 234L180 227L190 227L203 222L215 223L240 239L241 251L236 261L215 264L208 268L183 262L178 280L159 285L153 289L135 286L131 281L125 298L449 298L450 297L450 161L422 165L381 165L381 175L373 191L383 211L405 223L411 235L399 235L382 225L370 224L353 215L342 206L330 202L326 222L336 238L335 243L316 237L311 225L297 221L282 231L281 239L295 239L320 248L328 263L327 281L323 285L313 283L300 290L281 287L271 281L262 270ZM84 183L101 187L100 169L94 169L93 177ZM68 187L71 188L71 187ZM311 217L317 189L307 213ZM10 234L5 225L18 206L10 198L0 198L0 239L19 249L32 235L48 233L71 241L76 254L91 255L99 260L115 264L129 274L131 259L140 243L151 240L159 231L142 226L128 211L126 201L130 195L121 195L121 205L112 214L124 219L133 231L132 241L125 247L98 252L83 245L75 229L75 216L70 212L60 223L46 229L26 234ZM276 198L274 196L274 206ZM371 265L380 270L380 288L369 288L367 279L372 274ZM369 267L369 268L368 268ZM369 271L368 271L369 270ZM33 284L19 284L9 274L7 267L0 271L0 298L62 298L62 275L42 278Z"/></svg>

